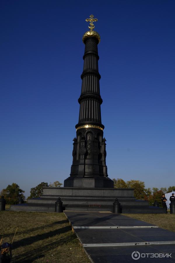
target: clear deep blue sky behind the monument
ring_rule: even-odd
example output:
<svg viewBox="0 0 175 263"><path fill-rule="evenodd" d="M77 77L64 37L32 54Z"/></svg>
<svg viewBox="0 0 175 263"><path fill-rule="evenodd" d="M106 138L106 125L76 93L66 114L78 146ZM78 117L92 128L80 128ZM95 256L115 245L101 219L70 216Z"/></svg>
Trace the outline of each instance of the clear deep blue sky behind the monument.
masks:
<svg viewBox="0 0 175 263"><path fill-rule="evenodd" d="M175 2L1 0L0 190L70 174L85 19L98 18L111 179L175 184Z"/></svg>

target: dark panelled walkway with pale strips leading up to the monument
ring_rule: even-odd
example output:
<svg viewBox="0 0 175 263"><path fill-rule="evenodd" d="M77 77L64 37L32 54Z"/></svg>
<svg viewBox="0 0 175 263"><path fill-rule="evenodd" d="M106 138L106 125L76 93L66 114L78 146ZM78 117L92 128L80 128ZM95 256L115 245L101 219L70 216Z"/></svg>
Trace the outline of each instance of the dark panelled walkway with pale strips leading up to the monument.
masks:
<svg viewBox="0 0 175 263"><path fill-rule="evenodd" d="M175 262L174 232L110 212L64 213L91 262Z"/></svg>

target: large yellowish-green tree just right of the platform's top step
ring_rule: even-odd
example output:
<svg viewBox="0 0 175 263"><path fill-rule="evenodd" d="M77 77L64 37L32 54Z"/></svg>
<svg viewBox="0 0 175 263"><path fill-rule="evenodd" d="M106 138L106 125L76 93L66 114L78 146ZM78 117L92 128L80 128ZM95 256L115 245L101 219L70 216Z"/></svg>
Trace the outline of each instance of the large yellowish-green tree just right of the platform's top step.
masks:
<svg viewBox="0 0 175 263"><path fill-rule="evenodd" d="M145 198L145 183L139 180L127 181L128 188L134 188L134 196L136 199L144 200Z"/></svg>

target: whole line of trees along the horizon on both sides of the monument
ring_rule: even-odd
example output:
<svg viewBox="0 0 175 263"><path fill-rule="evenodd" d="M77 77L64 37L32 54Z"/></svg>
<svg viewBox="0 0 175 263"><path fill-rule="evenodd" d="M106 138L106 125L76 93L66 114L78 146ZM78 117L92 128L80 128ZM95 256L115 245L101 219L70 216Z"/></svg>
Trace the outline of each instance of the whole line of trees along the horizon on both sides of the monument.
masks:
<svg viewBox="0 0 175 263"><path fill-rule="evenodd" d="M114 188L134 188L134 196L139 200L146 200L150 205L153 205L153 202L156 200L160 207L162 206L161 197L164 193L175 192L175 186L169 186L169 188L161 187L160 189L157 187L145 188L145 183L139 180L129 180L124 181L121 178L113 179ZM32 187L30 189L30 195L27 199L30 198L38 198L43 193L43 187L60 187L62 183L59 181L55 181L53 183L45 183L41 182L36 187ZM6 204L18 204L19 198L22 197L25 199L24 190L17 185L17 183L12 183L8 185L6 188L2 189L0 195L3 195L6 199Z"/></svg>

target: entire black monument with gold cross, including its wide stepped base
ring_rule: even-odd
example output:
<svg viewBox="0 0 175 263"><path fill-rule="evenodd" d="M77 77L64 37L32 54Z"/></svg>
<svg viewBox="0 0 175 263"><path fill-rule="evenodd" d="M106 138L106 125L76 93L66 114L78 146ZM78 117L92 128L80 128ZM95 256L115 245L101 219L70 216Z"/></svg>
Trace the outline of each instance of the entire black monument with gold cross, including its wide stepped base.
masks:
<svg viewBox="0 0 175 263"><path fill-rule="evenodd" d="M64 210L114 211L122 213L166 213L164 208L149 206L147 201L136 200L134 189L114 188L108 178L106 166L106 140L101 123L98 71L100 36L93 31L97 19L90 15L90 31L83 36L85 53L82 78L79 120L73 143L73 163L64 187L43 187L40 198L28 199L25 204L11 205L10 210L54 212L55 201L63 202ZM117 199L116 199L117 198ZM119 202L114 202L118 200ZM56 202L57 203L57 202ZM118 209L116 210L116 206ZM120 206L120 207L119 207Z"/></svg>

